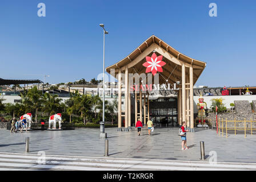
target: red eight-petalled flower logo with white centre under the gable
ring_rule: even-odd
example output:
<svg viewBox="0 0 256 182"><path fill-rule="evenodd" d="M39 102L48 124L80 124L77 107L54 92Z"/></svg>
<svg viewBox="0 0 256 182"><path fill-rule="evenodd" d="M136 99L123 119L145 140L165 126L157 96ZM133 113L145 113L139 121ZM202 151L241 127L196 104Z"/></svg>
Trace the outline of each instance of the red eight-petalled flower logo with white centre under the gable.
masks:
<svg viewBox="0 0 256 182"><path fill-rule="evenodd" d="M146 67L146 73L151 72L153 75L157 74L157 72L163 72L163 66L166 64L162 61L163 56L157 56L153 53L152 57L146 56L147 62L143 64Z"/></svg>

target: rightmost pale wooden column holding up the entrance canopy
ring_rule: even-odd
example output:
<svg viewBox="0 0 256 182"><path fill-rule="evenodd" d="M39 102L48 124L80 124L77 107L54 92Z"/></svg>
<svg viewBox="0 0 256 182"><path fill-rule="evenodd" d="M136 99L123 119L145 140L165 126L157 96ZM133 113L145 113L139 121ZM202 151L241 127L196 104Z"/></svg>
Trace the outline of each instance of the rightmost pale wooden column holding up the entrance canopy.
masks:
<svg viewBox="0 0 256 182"><path fill-rule="evenodd" d="M190 128L191 131L194 131L194 81L193 81L193 68L189 68L189 93L190 93Z"/></svg>

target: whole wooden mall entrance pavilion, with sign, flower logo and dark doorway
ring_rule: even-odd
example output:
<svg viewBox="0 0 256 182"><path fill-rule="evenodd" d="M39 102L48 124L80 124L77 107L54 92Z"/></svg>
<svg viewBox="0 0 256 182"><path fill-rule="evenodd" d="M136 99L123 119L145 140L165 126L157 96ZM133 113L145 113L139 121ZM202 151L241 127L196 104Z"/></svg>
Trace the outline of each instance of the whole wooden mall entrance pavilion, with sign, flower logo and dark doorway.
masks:
<svg viewBox="0 0 256 182"><path fill-rule="evenodd" d="M188 129L191 126L194 131L193 86L205 67L205 62L182 54L155 35L124 59L107 67L106 72L118 80L117 131L130 131L133 121L146 125L150 116L161 125L175 126L186 121ZM175 96L160 93L157 99L151 98L151 91L161 90L177 93ZM135 113L131 109L133 105Z"/></svg>

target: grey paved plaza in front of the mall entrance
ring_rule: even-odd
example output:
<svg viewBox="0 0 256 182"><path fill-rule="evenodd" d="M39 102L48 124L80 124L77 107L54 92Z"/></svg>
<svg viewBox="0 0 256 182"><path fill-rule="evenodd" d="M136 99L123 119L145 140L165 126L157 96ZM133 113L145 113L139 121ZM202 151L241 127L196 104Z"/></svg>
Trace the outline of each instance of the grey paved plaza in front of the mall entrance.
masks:
<svg viewBox="0 0 256 182"><path fill-rule="evenodd" d="M117 128L105 129L109 139L109 158L137 158L200 161L200 141L205 142L205 153L217 152L218 162L256 162L255 135L222 137L216 131L199 130L187 134L189 150L181 150L177 128L156 127L149 136L142 129L141 136L132 127L129 132ZM30 131L10 133L0 130L0 152L25 152L25 138L30 137L30 154L45 151L46 155L94 156L104 155L105 140L99 138L99 129L65 131ZM206 159L209 160L210 157Z"/></svg>

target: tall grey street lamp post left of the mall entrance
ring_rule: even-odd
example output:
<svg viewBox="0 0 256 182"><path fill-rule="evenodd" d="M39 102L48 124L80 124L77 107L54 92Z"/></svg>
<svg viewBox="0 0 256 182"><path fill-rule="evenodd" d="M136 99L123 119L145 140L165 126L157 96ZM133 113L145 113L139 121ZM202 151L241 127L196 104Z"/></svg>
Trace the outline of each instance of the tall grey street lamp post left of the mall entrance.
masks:
<svg viewBox="0 0 256 182"><path fill-rule="evenodd" d="M99 24L103 28L103 106L102 106L102 122L99 123L100 127L100 138L107 138L107 134L105 133L105 34L109 34L104 28L104 24Z"/></svg>

